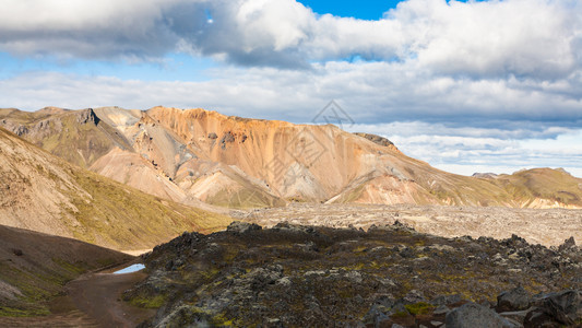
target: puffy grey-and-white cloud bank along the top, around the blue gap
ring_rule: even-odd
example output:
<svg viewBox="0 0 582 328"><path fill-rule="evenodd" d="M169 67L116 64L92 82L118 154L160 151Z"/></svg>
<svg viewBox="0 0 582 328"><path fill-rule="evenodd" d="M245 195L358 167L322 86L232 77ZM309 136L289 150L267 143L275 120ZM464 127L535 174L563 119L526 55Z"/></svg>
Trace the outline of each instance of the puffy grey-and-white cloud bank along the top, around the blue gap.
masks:
<svg viewBox="0 0 582 328"><path fill-rule="evenodd" d="M285 68L359 56L413 61L438 74L543 80L563 78L582 61L575 0L408 0L379 21L319 16L295 0L0 3L0 49L21 55L155 58L181 50Z"/></svg>

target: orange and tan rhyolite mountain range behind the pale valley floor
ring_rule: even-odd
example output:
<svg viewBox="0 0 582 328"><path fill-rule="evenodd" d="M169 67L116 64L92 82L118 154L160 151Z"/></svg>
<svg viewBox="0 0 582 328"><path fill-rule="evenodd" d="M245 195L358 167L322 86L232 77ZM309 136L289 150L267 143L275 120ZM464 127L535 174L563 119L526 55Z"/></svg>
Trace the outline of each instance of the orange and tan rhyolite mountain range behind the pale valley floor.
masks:
<svg viewBox="0 0 582 328"><path fill-rule="evenodd" d="M0 109L0 125L70 163L157 197L201 206L288 201L582 208L582 180L556 169L466 177L333 125L204 109Z"/></svg>

